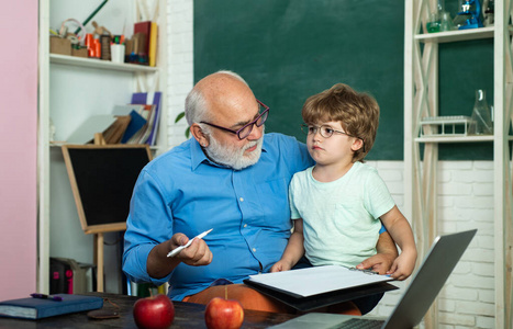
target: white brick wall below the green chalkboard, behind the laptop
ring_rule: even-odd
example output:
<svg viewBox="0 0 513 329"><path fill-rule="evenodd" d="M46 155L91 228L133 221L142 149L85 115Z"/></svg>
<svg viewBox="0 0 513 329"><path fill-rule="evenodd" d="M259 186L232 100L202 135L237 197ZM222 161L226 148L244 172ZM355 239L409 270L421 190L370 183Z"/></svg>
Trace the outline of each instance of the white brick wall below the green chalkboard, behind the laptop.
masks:
<svg viewBox="0 0 513 329"><path fill-rule="evenodd" d="M369 161L387 182L399 208L403 163ZM478 234L438 295L439 328L494 328L493 163L442 161L438 168L438 234L477 228ZM411 218L409 218L411 219ZM387 316L400 291L387 293L372 315Z"/></svg>

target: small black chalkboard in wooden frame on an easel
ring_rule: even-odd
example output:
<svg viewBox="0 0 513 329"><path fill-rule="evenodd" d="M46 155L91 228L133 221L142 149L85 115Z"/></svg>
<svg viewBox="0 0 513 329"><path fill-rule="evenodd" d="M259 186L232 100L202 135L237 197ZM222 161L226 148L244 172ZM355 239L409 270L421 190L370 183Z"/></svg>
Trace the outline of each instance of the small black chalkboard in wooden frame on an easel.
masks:
<svg viewBox="0 0 513 329"><path fill-rule="evenodd" d="M133 188L152 155L147 145L65 145L63 155L86 234L124 230Z"/></svg>

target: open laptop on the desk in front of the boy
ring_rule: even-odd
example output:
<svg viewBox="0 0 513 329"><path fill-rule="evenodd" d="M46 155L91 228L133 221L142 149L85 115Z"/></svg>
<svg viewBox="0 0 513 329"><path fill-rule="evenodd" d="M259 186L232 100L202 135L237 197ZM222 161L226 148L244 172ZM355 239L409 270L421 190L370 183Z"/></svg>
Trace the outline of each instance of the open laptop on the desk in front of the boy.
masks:
<svg viewBox="0 0 513 329"><path fill-rule="evenodd" d="M476 231L438 236L388 319L310 313L272 328L413 328L430 309Z"/></svg>

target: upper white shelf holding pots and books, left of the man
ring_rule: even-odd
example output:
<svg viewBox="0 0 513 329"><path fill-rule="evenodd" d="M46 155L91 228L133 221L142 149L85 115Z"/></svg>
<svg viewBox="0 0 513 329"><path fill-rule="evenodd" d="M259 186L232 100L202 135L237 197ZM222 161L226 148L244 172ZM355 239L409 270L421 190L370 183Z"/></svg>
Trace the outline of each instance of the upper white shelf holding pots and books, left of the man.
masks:
<svg viewBox="0 0 513 329"><path fill-rule="evenodd" d="M64 64L64 65L70 65L70 66L108 69L108 70L114 70L114 71L129 71L129 72L156 72L158 71L158 67L150 67L150 66L144 66L144 65L136 65L136 64L112 63L112 61L102 60L102 59L92 59L92 58L66 56L66 55L58 55L58 54L49 54L49 61L53 64Z"/></svg>

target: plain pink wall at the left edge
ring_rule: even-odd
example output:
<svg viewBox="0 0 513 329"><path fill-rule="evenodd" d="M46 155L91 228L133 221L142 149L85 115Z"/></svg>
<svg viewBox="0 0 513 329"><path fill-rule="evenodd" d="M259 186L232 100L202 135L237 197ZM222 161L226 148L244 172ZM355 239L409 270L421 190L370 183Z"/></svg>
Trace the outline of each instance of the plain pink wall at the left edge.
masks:
<svg viewBox="0 0 513 329"><path fill-rule="evenodd" d="M0 20L0 300L36 288L37 0Z"/></svg>

